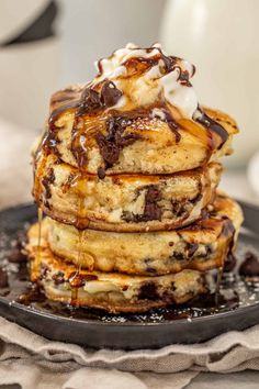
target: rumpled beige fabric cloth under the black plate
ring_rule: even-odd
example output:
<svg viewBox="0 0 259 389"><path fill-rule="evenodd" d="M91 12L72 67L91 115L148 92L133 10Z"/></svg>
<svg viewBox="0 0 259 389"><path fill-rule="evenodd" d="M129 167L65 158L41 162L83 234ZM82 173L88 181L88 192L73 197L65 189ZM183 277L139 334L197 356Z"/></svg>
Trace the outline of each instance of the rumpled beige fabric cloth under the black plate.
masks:
<svg viewBox="0 0 259 389"><path fill-rule="evenodd" d="M0 318L0 384L23 389L179 389L199 371L259 370L259 325L202 344L125 352L48 341Z"/></svg>

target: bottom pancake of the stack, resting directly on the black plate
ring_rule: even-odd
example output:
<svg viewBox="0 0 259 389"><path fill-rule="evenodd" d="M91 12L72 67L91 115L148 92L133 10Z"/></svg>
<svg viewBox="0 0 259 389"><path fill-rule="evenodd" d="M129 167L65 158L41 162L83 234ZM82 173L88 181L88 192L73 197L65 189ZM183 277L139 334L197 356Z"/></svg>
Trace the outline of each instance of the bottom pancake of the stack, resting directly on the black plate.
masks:
<svg viewBox="0 0 259 389"><path fill-rule="evenodd" d="M40 284L49 300L113 313L145 312L187 302L206 291L200 271L185 269L158 277L91 273L66 264L44 244L31 246L31 279Z"/></svg>

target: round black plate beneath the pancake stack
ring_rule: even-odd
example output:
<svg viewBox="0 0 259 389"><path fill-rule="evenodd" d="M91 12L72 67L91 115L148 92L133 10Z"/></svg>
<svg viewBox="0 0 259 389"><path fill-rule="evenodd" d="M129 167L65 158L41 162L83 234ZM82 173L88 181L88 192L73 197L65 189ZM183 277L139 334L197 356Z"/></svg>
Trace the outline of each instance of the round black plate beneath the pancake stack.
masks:
<svg viewBox="0 0 259 389"><path fill-rule="evenodd" d="M259 208L241 203L245 212L245 229L241 231L238 257L246 249L259 253ZM24 224L36 218L34 205L19 205L0 212L2 237L0 260L7 265L7 246L24 230ZM4 237L5 242L4 243ZM18 281L15 264L9 266L10 290L0 297L0 314L37 334L55 341L76 343L94 348L155 348L173 343L198 343L229 330L244 330L259 323L259 287L235 280L234 298L224 309L210 309L202 315L199 303L158 310L138 315L109 315L101 311L60 308L47 300L25 305L15 301L29 281L26 276ZM20 266L20 265L19 265ZM24 265L23 265L24 266ZM24 270L24 269L23 269ZM229 278L229 276L228 276ZM230 277L233 281L233 276ZM226 281L225 278L225 284ZM222 288L224 289L224 282ZM229 291L229 288L228 288ZM194 304L194 302L192 302ZM190 314L188 314L188 312ZM183 319L181 319L183 318Z"/></svg>

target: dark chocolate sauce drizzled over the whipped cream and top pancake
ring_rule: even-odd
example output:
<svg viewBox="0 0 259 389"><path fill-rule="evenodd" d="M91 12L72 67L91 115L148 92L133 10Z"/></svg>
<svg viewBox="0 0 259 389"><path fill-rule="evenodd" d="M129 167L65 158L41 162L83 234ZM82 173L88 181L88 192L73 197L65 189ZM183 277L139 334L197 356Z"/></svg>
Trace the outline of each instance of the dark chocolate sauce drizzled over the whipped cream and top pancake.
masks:
<svg viewBox="0 0 259 389"><path fill-rule="evenodd" d="M147 53L150 53L155 49L155 47L147 47L145 49ZM126 60L123 66L125 66L128 71L126 75L123 75L123 77L130 78L134 74L142 74L147 71L153 66L157 65L159 60L161 60L164 64L165 74L168 74L177 68L179 70L179 82L184 87L191 87L192 85L189 78L195 73L195 67L193 66L192 74L189 75L189 71L182 70L178 65L179 58L165 55L160 47L156 47L156 49L157 54L150 58L132 57ZM103 69L101 60L98 63L98 68L100 75L102 75ZM54 95L52 99L53 111L48 120L48 131L43 141L43 148L48 154L53 152L59 156L59 127L57 127L55 123L63 112L71 110L75 112L75 122L70 149L78 164L78 167L83 169L88 164L88 134L87 130L85 129L83 116L88 116L89 121L91 121L91 118L95 118L101 122L104 121L103 130L105 131L97 130L95 133L95 142L104 162L104 165L100 167L101 170L99 170L99 177L104 178L103 171L105 171L108 168L111 168L119 162L120 152L123 149L123 147L126 147L140 138L140 135L136 133L123 134L125 127L131 126L133 121L137 119L138 115L142 116L144 111L146 111L145 115L148 116L148 112L150 112L153 109L149 107L145 110L138 109L134 111L125 111L123 113L113 109L112 111L108 111L106 116L104 116L104 111L111 107L115 107L122 95L123 92L119 90L115 84L109 79L103 79L95 85L88 84L85 88L79 88L76 90L68 88ZM167 109L166 102L165 107L159 107L159 109L162 110L165 114L165 122L168 123L168 126L176 136L176 143L179 143L181 140L179 125ZM219 145L219 147L222 147L222 145L228 138L227 131L218 122L202 112L200 107L198 110L200 111L200 116L195 118L194 121L202 124L209 131L217 134L222 140ZM159 119L161 120L161 118Z"/></svg>

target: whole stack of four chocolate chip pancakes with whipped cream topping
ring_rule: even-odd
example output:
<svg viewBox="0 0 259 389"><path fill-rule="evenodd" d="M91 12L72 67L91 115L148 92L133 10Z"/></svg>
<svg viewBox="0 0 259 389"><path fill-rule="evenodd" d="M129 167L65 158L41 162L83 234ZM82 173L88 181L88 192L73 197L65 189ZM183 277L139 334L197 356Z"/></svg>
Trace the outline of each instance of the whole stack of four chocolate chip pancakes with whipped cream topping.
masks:
<svg viewBox="0 0 259 389"><path fill-rule="evenodd" d="M194 67L158 45L127 45L98 68L50 100L31 279L52 300L111 312L183 303L235 247L241 211L216 188L237 125L198 103Z"/></svg>

